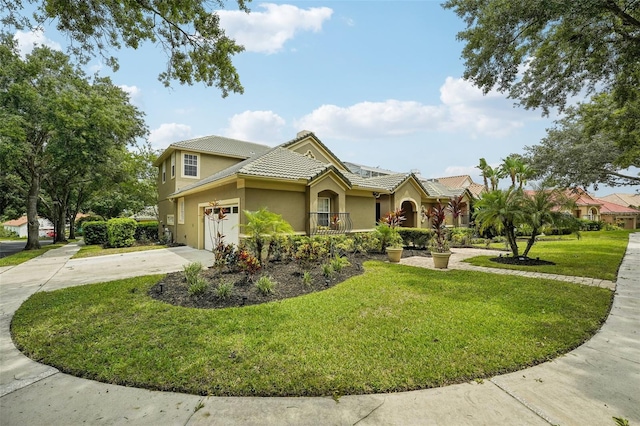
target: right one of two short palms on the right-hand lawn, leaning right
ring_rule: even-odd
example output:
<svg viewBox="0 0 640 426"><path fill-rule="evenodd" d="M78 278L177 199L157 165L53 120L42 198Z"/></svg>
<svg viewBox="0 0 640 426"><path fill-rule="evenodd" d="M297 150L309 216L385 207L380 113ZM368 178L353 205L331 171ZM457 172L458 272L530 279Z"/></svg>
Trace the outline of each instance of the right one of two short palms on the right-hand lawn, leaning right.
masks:
<svg viewBox="0 0 640 426"><path fill-rule="evenodd" d="M574 205L575 202L559 189L537 186L530 194L526 194L522 198L522 211L525 223L531 226L531 236L522 255L526 257L529 254L544 226L557 225L573 219L573 216L566 212L571 211Z"/></svg>

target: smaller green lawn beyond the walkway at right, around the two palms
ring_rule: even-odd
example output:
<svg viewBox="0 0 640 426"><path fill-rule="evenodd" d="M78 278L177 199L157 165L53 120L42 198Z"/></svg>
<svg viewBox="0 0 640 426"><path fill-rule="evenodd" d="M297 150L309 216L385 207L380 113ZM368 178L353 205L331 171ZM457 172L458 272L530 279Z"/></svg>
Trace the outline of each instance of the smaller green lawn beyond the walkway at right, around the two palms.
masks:
<svg viewBox="0 0 640 426"><path fill-rule="evenodd" d="M591 277L614 281L622 262L629 234L633 231L592 231L583 232L581 238L545 240L535 243L529 257L554 262L555 265L518 266L491 262L494 256L478 256L465 260L472 265L501 269L519 269L548 274ZM526 242L518 244L521 252ZM500 248L504 248L501 245Z"/></svg>

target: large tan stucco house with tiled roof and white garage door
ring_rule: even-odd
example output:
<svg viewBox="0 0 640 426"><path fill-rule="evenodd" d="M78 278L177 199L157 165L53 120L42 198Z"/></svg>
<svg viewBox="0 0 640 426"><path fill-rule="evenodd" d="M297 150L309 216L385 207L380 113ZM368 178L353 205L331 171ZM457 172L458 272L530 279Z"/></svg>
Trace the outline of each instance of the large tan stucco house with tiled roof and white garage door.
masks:
<svg viewBox="0 0 640 426"><path fill-rule="evenodd" d="M296 233L316 235L370 231L396 208L404 210L403 226L428 227L422 212L449 199L414 173L353 173L309 131L274 148L220 136L187 140L171 144L154 165L161 226L174 242L208 250L207 213L218 208L227 216L225 241L237 244L244 210L266 207Z"/></svg>

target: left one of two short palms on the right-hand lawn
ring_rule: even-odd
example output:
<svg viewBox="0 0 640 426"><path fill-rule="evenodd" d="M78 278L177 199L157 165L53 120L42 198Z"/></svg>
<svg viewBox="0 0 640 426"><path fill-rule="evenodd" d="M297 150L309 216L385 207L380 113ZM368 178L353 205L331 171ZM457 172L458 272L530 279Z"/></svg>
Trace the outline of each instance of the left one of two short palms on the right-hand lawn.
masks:
<svg viewBox="0 0 640 426"><path fill-rule="evenodd" d="M475 203L474 217L480 224L480 231L494 228L504 234L514 257L518 256L516 226L522 222L522 191L515 188L494 189L482 194Z"/></svg>

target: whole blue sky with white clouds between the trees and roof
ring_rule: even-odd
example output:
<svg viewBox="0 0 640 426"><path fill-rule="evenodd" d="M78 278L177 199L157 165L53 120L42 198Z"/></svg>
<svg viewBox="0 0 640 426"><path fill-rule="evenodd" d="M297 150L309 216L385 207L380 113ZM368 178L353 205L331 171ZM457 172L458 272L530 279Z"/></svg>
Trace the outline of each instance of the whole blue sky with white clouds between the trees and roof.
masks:
<svg viewBox="0 0 640 426"><path fill-rule="evenodd" d="M229 6L232 4L229 3ZM463 22L439 1L254 2L252 12L220 11L227 34L246 51L234 64L244 94L202 84L165 88L165 53L151 44L115 52L110 75L145 112L149 140L170 143L211 134L275 146L311 130L340 159L425 177L470 174L538 143L552 125L540 111L485 96L462 80ZM54 30L17 34L62 47ZM614 192L601 188L598 193Z"/></svg>

